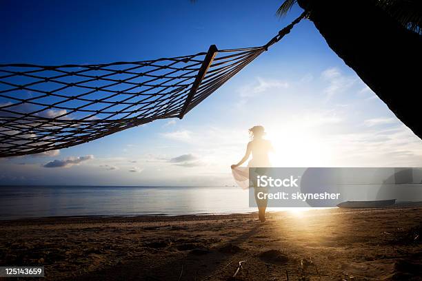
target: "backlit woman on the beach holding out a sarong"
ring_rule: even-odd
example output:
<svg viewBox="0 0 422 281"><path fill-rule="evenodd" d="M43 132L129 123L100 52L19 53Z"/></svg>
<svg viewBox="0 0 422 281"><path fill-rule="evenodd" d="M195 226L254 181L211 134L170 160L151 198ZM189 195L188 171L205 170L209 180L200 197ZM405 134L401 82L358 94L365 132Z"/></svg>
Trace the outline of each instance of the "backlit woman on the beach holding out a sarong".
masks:
<svg viewBox="0 0 422 281"><path fill-rule="evenodd" d="M262 169L255 169L255 173L263 174L265 173L265 167L271 167L269 153L272 152L274 149L270 141L265 140L263 136L265 135L265 130L263 126L254 126L249 129L250 137L252 141L248 143L246 147L245 156L239 161L239 163L232 165L232 174L234 179L239 183L240 181L245 180L249 183L249 174L248 169L241 169L239 168L240 165L245 163L248 160L250 154L252 154L252 159L248 163L248 167L259 167ZM258 205L258 213L259 213L259 220L261 222L265 222L265 209L267 208L267 200L259 199L257 194L260 191L259 188L256 186L254 181L252 182L254 187L254 194L255 200L257 201Z"/></svg>

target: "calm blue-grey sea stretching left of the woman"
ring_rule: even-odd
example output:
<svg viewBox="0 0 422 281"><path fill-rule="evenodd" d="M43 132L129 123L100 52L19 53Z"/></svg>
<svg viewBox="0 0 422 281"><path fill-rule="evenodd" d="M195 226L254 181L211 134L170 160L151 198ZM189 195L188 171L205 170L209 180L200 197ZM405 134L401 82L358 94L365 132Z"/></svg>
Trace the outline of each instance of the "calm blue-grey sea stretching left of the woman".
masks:
<svg viewBox="0 0 422 281"><path fill-rule="evenodd" d="M239 187L2 186L0 219L255 211Z"/></svg>

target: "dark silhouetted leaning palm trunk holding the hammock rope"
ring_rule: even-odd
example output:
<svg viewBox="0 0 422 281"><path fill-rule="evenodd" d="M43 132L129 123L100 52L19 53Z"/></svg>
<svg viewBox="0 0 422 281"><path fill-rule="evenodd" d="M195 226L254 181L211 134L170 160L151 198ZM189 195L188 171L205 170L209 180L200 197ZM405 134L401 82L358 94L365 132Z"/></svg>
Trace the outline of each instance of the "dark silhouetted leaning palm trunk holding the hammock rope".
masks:
<svg viewBox="0 0 422 281"><path fill-rule="evenodd" d="M328 45L422 138L422 37L374 0L298 0Z"/></svg>

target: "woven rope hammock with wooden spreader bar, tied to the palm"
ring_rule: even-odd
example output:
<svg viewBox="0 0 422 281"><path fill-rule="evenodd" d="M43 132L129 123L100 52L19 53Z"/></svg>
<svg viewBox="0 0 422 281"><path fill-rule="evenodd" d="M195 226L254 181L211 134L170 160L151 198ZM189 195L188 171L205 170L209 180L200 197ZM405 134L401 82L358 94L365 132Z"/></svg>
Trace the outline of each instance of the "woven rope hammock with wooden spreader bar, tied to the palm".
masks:
<svg viewBox="0 0 422 281"><path fill-rule="evenodd" d="M0 157L87 143L163 118L183 118L288 34L255 48L96 65L0 64Z"/></svg>

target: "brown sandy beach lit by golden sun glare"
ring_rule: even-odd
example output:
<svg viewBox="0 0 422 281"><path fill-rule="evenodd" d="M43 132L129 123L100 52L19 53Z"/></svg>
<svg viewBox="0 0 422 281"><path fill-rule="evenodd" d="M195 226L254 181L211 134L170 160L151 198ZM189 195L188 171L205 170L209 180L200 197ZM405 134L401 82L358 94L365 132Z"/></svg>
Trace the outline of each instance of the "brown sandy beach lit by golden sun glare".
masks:
<svg viewBox="0 0 422 281"><path fill-rule="evenodd" d="M421 222L420 207L10 220L0 263L43 280L422 280Z"/></svg>

